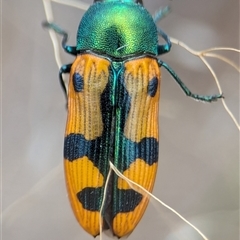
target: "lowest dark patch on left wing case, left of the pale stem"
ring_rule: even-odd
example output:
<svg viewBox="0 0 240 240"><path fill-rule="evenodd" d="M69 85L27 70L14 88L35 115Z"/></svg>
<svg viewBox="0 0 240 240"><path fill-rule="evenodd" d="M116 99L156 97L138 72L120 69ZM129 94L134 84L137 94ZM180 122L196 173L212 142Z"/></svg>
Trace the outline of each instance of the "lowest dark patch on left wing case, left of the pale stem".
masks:
<svg viewBox="0 0 240 240"><path fill-rule="evenodd" d="M101 194L103 188L93 188L93 187L86 187L82 191L77 193L77 198L84 209L89 211L99 211L101 208Z"/></svg>

